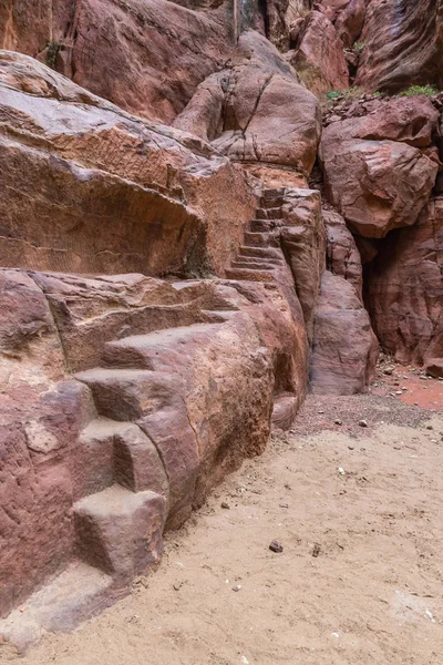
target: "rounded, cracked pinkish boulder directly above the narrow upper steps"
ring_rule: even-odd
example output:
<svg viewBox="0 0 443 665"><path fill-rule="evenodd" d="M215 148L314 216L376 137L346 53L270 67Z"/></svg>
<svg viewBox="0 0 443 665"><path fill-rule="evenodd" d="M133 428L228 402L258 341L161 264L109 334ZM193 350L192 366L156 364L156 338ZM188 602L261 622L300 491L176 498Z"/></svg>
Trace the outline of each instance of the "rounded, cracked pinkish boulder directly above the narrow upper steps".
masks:
<svg viewBox="0 0 443 665"><path fill-rule="evenodd" d="M321 129L316 96L251 31L241 35L233 68L205 81L174 126L212 141L235 162L303 176L313 166Z"/></svg>

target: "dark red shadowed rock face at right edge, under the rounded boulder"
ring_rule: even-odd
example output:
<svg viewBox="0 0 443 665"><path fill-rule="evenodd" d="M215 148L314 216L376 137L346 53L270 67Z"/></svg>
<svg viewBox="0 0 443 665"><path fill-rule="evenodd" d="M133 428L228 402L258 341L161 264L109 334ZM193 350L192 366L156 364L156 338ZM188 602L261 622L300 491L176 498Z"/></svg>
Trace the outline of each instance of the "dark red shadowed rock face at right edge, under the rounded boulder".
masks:
<svg viewBox="0 0 443 665"><path fill-rule="evenodd" d="M389 234L369 268L367 303L383 347L402 362L443 356L443 200Z"/></svg>

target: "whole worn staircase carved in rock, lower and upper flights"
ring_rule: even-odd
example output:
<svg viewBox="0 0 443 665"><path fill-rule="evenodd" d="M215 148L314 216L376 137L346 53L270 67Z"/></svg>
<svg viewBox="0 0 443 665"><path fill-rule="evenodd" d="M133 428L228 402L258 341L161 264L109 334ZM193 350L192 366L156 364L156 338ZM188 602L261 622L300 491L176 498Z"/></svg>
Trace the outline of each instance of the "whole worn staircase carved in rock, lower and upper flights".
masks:
<svg viewBox="0 0 443 665"><path fill-rule="evenodd" d="M287 269L278 239L284 192L264 192L229 279L271 283ZM72 630L125 595L161 556L167 516L171 525L188 516L198 446L174 367L229 316L213 314L219 323L106 342L101 366L75 375L96 411L71 461L75 557L1 622L0 634L19 648L44 632Z"/></svg>

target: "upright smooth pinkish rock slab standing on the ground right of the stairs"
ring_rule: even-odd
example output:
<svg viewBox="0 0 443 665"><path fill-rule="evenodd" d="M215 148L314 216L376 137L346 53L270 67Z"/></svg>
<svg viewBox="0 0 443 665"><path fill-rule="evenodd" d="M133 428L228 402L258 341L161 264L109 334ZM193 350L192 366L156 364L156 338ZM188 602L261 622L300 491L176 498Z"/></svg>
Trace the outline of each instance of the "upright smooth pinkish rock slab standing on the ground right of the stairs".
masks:
<svg viewBox="0 0 443 665"><path fill-rule="evenodd" d="M378 342L351 283L328 270L316 309L310 388L316 395L354 395L374 375Z"/></svg>

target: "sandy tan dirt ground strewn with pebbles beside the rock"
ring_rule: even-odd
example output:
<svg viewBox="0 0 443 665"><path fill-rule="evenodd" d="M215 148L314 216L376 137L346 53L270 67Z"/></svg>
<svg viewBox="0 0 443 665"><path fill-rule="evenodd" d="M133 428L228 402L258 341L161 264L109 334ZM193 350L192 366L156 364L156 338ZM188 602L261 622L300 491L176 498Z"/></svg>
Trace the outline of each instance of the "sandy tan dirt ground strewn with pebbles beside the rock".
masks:
<svg viewBox="0 0 443 665"><path fill-rule="evenodd" d="M22 665L441 665L443 385L411 406L394 380L310 397L130 597Z"/></svg>

